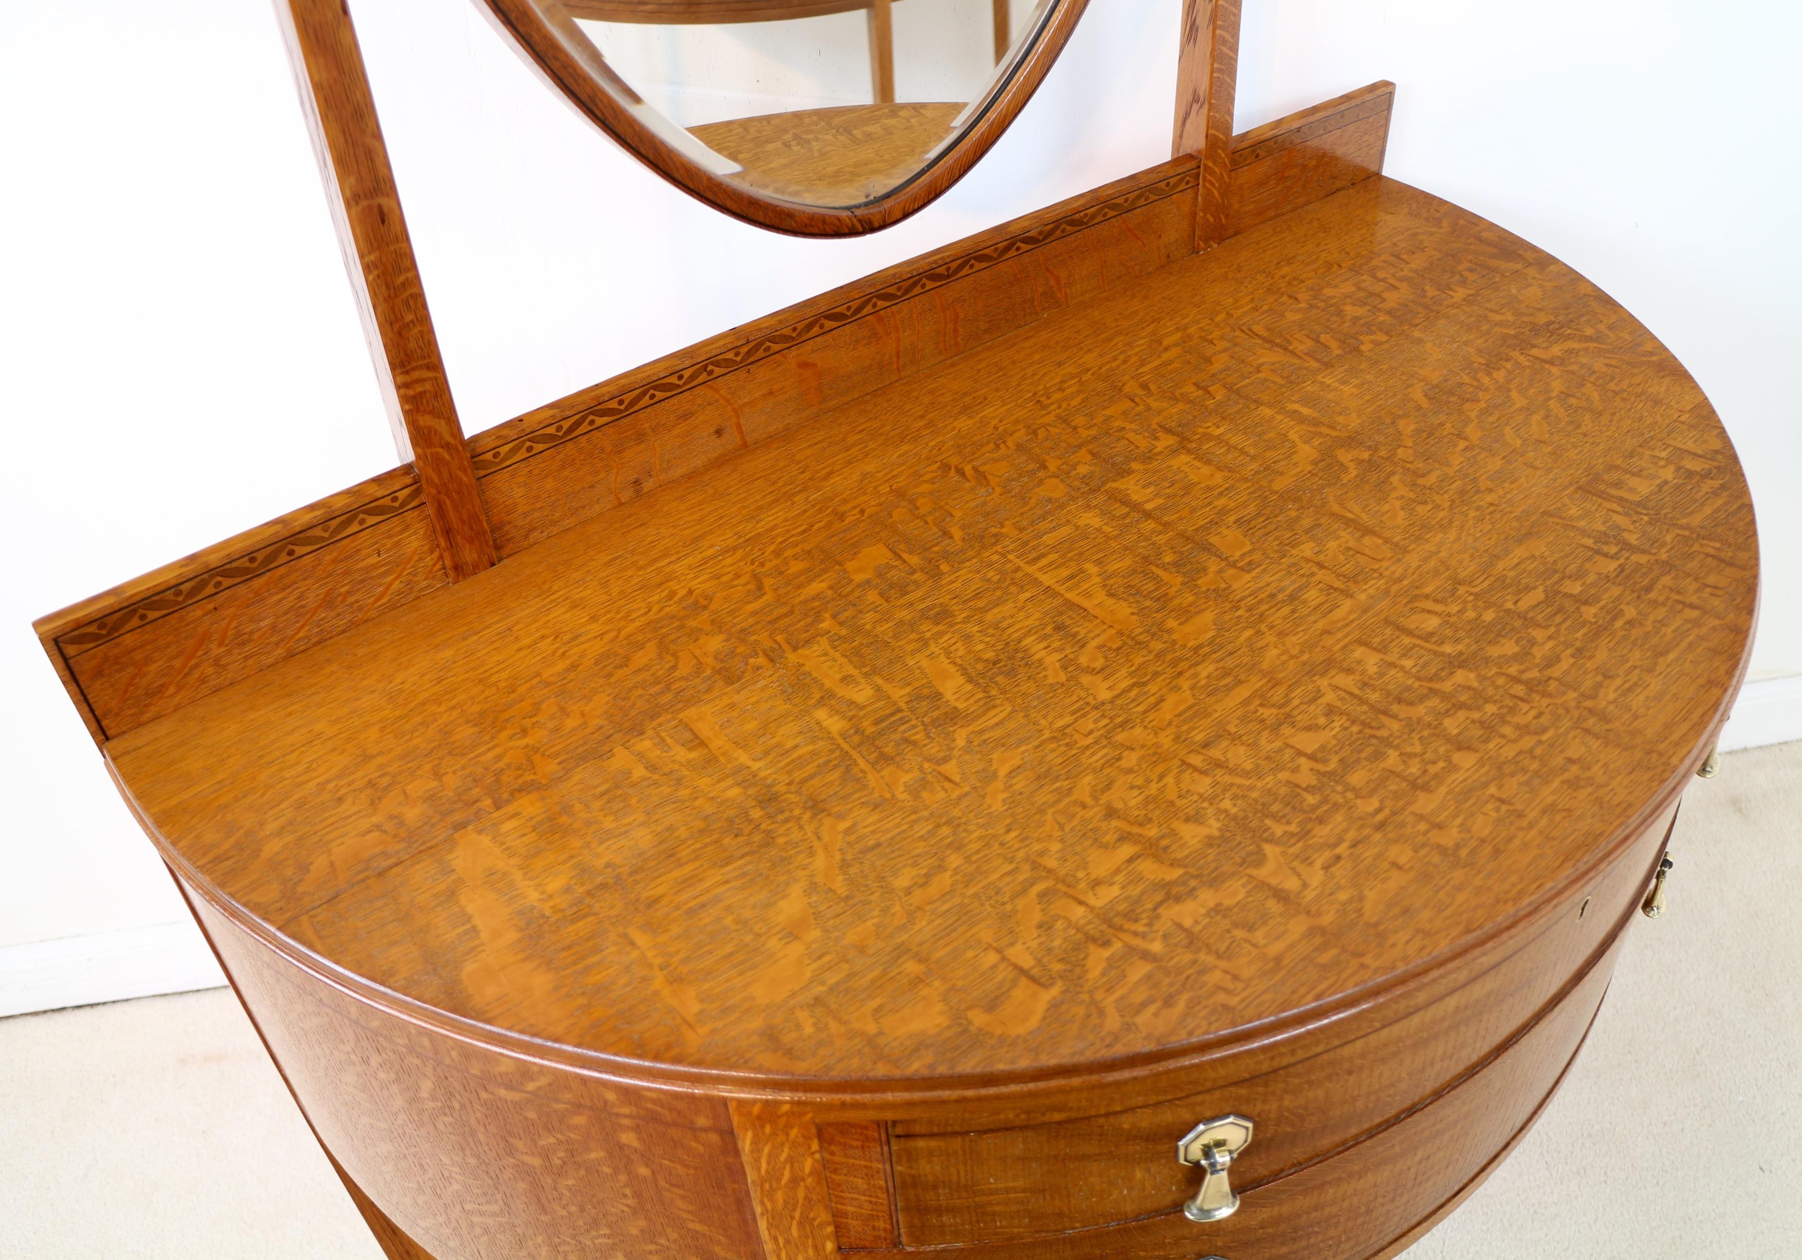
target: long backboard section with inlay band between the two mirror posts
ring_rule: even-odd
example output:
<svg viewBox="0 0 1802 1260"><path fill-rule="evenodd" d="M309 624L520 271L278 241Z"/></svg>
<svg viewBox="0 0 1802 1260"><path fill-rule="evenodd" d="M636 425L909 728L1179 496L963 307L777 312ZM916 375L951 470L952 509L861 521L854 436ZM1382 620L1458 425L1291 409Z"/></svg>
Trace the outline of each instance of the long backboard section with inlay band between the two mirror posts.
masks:
<svg viewBox="0 0 1802 1260"><path fill-rule="evenodd" d="M1193 187L1155 168L479 434L501 553L1168 265Z"/></svg>

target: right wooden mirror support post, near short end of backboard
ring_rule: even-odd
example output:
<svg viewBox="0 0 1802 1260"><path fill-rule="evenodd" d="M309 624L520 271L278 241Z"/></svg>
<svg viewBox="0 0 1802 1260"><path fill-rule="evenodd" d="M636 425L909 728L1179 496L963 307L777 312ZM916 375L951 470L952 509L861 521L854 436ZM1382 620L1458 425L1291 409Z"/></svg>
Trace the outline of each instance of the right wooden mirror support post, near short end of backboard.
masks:
<svg viewBox="0 0 1802 1260"><path fill-rule="evenodd" d="M1233 96L1238 87L1240 0L1182 0L1177 52L1177 121L1171 157L1200 155L1195 195L1195 249L1229 234L1227 173L1233 150Z"/></svg>

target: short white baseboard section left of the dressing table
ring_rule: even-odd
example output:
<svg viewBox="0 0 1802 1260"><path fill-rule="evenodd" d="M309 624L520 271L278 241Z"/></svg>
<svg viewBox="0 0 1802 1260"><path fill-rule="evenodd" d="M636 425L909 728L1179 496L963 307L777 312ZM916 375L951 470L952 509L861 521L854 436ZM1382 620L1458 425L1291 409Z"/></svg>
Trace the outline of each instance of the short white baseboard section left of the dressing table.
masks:
<svg viewBox="0 0 1802 1260"><path fill-rule="evenodd" d="M0 1017L225 982L193 921L0 946Z"/></svg>

